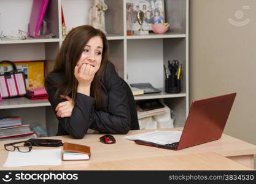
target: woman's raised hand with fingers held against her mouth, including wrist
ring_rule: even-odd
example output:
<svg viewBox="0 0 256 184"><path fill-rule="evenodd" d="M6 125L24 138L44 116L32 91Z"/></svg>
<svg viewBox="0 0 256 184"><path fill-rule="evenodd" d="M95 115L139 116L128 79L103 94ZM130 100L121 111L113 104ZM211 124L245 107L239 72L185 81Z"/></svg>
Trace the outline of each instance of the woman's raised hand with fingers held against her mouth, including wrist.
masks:
<svg viewBox="0 0 256 184"><path fill-rule="evenodd" d="M78 63L75 67L75 77L78 81L77 92L86 94L90 96L91 82L93 81L94 75L96 73L94 66L86 63Z"/></svg>

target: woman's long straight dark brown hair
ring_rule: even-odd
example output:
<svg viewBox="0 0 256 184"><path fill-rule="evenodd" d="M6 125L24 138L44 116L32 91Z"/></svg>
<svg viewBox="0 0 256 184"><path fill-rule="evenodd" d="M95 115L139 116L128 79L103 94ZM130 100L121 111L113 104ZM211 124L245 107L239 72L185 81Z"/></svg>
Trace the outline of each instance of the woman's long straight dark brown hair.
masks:
<svg viewBox="0 0 256 184"><path fill-rule="evenodd" d="M82 55L83 49L87 42L95 36L101 37L103 41L103 56L101 60L101 66L98 72L96 72L93 82L91 83L91 92L96 101L96 108L102 107L101 96L101 83L103 81L103 75L106 70L106 64L108 61L109 46L105 34L99 30L93 28L93 26L83 25L72 29L64 39L61 45L60 52L56 57L56 63L51 73L62 72L63 80L54 86L56 90L55 98L61 93L64 96L70 96L75 103L77 92L77 79L74 75L74 68Z"/></svg>

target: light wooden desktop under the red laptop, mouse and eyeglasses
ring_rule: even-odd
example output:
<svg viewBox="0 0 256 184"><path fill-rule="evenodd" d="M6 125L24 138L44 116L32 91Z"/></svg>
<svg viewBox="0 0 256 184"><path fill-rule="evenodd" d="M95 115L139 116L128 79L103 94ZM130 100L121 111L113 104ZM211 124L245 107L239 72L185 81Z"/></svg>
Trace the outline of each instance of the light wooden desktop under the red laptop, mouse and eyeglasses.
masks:
<svg viewBox="0 0 256 184"><path fill-rule="evenodd" d="M180 130L181 128L172 128L168 130ZM167 130L167 129L163 129ZM153 130L136 130L128 132L128 135L138 134L141 132L148 132ZM191 154L191 153L203 153L212 152L217 153L220 156L241 156L241 155L254 155L256 154L256 145L249 144L234 137L223 136L219 140L208 142L194 147L185 148L183 150L174 151L166 150L163 148L149 147L144 145L135 144L132 140L126 140L122 137L126 135L114 135L117 142L115 144L106 145L99 142L99 137L102 134L86 134L83 139L72 139L70 136L58 136L48 137L49 139L62 139L63 142L73 142L76 144L88 145L91 147L91 158L90 161L63 161L63 166L72 166L74 164L88 164L98 163L106 161L125 161L127 159L141 159L141 158L152 158L157 156L172 156L180 154ZM49 166L33 166L33 167L2 167L6 161L8 152L4 149L6 141L0 142L0 169L1 170L41 170L49 169ZM33 147L33 149L49 149L47 147ZM235 169L235 168L233 168Z"/></svg>

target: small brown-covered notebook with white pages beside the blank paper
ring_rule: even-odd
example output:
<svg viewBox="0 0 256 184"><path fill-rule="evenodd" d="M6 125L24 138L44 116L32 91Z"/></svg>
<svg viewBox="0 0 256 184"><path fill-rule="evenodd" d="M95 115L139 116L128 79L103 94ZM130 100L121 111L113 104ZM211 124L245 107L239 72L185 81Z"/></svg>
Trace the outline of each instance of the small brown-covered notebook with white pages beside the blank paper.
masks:
<svg viewBox="0 0 256 184"><path fill-rule="evenodd" d="M63 160L82 160L90 159L90 147L81 144L72 144L64 142L63 144Z"/></svg>

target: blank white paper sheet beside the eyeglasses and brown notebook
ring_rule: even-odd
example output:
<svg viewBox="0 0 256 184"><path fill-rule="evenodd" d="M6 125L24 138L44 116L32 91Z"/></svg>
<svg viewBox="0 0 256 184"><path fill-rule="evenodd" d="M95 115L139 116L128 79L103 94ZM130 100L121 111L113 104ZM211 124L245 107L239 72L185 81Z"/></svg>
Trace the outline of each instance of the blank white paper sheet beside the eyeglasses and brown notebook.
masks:
<svg viewBox="0 0 256 184"><path fill-rule="evenodd" d="M4 167L61 165L61 149L31 150L28 153L9 151Z"/></svg>

